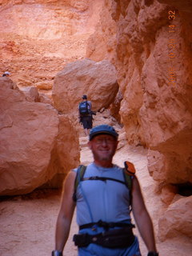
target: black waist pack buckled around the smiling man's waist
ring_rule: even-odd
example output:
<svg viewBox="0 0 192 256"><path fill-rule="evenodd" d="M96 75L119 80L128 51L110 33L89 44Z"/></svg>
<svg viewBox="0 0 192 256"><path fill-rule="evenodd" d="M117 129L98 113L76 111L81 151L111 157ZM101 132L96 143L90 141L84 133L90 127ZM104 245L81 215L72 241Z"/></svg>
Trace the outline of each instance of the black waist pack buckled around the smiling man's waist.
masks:
<svg viewBox="0 0 192 256"><path fill-rule="evenodd" d="M86 247L90 243L108 248L129 247L134 242L132 227L126 226L122 229L107 230L99 234L74 234L75 246Z"/></svg>

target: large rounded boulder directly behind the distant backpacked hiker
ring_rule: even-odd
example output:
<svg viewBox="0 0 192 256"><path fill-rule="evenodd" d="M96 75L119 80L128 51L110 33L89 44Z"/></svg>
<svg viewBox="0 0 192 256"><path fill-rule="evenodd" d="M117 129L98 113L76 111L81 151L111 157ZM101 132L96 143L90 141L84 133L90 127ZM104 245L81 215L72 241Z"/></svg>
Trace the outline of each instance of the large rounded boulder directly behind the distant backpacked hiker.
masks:
<svg viewBox="0 0 192 256"><path fill-rule="evenodd" d="M84 59L67 64L54 79L54 107L78 117L78 103L86 94L93 110L108 108L118 92L116 70L109 61Z"/></svg>

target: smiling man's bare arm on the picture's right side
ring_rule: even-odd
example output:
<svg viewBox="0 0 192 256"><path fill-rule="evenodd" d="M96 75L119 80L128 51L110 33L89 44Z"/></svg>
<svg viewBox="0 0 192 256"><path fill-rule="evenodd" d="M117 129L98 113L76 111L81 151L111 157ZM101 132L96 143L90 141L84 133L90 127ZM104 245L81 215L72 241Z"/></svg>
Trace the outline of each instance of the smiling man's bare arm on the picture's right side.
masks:
<svg viewBox="0 0 192 256"><path fill-rule="evenodd" d="M136 177L133 178L132 209L139 233L141 234L147 249L156 252L153 223L150 214L148 214L148 211L146 210L142 192Z"/></svg>

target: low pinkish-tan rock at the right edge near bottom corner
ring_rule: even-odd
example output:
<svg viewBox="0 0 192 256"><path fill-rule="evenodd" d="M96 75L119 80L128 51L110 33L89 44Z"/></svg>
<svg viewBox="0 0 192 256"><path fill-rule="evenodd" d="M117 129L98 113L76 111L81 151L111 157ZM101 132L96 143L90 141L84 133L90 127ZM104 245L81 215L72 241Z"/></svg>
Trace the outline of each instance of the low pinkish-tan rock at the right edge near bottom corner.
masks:
<svg viewBox="0 0 192 256"><path fill-rule="evenodd" d="M166 210L158 222L158 238L165 241L185 234L192 238L192 197L179 199Z"/></svg>

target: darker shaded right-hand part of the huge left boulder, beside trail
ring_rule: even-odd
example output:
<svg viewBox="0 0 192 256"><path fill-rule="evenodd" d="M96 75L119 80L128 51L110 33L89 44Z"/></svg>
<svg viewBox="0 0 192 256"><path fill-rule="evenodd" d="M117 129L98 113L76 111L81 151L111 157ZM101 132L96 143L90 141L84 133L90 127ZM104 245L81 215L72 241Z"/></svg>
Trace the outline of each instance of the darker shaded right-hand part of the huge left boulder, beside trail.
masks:
<svg viewBox="0 0 192 256"><path fill-rule="evenodd" d="M44 187L62 187L66 174L79 165L78 131L67 115L59 114L58 119L58 136L47 168L47 174L54 174L54 177L50 176Z"/></svg>

